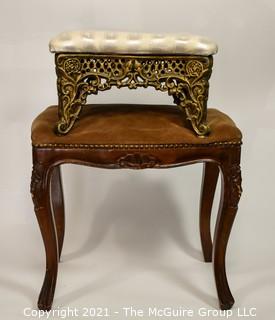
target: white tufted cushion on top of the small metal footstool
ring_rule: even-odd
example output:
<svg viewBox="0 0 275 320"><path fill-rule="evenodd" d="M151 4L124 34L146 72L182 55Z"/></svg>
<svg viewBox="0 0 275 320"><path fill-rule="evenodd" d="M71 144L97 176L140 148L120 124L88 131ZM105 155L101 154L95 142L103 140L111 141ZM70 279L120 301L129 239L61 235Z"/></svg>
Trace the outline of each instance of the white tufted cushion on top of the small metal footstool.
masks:
<svg viewBox="0 0 275 320"><path fill-rule="evenodd" d="M209 56L217 53L215 42L190 34L152 34L109 31L71 31L54 37L51 52L117 54L182 54Z"/></svg>

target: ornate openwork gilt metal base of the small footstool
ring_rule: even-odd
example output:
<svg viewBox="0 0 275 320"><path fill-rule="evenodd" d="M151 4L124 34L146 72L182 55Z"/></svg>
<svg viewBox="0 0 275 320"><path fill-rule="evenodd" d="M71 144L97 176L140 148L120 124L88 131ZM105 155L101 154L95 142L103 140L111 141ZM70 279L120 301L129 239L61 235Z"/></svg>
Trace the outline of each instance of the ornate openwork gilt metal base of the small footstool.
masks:
<svg viewBox="0 0 275 320"><path fill-rule="evenodd" d="M168 92L185 111L198 136L206 123L212 56L102 55L58 53L55 56L59 121L57 134L66 134L79 117L87 96L117 88L154 87Z"/></svg>

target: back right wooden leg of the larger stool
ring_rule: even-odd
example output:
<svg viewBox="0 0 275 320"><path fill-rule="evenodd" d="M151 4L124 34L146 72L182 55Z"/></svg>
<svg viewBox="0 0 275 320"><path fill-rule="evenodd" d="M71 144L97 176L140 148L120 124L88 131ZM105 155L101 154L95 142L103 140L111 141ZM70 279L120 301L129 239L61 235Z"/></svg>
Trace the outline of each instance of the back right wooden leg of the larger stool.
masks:
<svg viewBox="0 0 275 320"><path fill-rule="evenodd" d="M212 261L212 240L210 231L211 210L219 177L216 163L205 162L203 167L200 201L200 236L205 262Z"/></svg>

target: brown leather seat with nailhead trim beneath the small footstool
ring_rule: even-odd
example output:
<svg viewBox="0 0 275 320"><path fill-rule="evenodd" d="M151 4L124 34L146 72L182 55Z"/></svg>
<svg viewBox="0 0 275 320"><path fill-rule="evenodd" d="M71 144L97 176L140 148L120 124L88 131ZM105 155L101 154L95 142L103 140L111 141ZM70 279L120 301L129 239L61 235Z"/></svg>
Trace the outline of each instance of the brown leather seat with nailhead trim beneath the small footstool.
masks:
<svg viewBox="0 0 275 320"><path fill-rule="evenodd" d="M224 113L208 110L211 128L208 137L200 138L184 123L176 106L164 105L87 105L72 131L58 136L53 128L58 121L57 106L48 107L32 124L32 143L37 147L163 145L207 146L239 144L240 130Z"/></svg>

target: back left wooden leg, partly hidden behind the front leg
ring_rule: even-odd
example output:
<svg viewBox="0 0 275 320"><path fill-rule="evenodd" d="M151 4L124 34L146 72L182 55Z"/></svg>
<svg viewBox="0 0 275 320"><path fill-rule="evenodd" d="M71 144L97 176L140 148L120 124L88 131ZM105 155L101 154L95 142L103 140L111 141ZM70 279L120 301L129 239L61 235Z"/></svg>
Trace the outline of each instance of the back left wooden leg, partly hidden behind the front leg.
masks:
<svg viewBox="0 0 275 320"><path fill-rule="evenodd" d="M64 198L60 166L56 166L53 169L51 177L51 201L53 214L55 218L55 226L58 238L58 252L60 260L65 232Z"/></svg>

